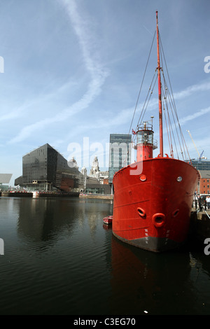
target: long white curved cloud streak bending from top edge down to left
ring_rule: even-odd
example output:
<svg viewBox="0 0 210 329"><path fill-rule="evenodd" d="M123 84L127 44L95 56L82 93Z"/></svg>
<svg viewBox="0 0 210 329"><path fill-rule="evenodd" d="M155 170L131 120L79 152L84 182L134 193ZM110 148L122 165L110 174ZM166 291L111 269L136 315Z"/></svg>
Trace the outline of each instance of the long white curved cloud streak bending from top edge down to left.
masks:
<svg viewBox="0 0 210 329"><path fill-rule="evenodd" d="M109 72L104 69L101 62L99 61L99 57L95 58L92 55L94 40L92 39L92 34L88 32L88 21L85 20L84 17L81 17L78 13L77 5L75 0L62 0L64 5L64 10L68 13L71 25L78 36L78 43L81 48L81 52L83 55L83 62L85 64L85 69L90 73L90 83L87 85L87 92L83 94L77 102L71 104L66 109L59 111L58 115L55 115L50 118L45 118L43 120L39 120L36 123L31 125L27 125L22 128L17 136L13 139L10 139L9 144L18 143L23 141L29 137L36 130L40 130L43 127L50 125L52 123L56 123L58 121L64 121L66 118L73 116L74 114L83 111L88 106L90 106L91 102L102 92L102 85L106 80L106 77L109 75ZM96 46L94 45L94 49Z"/></svg>

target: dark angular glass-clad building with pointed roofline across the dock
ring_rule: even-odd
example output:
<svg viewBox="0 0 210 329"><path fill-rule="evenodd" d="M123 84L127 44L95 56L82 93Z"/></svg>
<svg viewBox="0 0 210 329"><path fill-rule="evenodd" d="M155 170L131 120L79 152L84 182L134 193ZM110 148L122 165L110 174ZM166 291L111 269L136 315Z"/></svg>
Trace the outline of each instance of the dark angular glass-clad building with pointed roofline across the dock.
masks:
<svg viewBox="0 0 210 329"><path fill-rule="evenodd" d="M80 192L84 176L78 171L76 160L67 162L55 148L45 144L22 157L22 176L15 179L17 185L31 191Z"/></svg>

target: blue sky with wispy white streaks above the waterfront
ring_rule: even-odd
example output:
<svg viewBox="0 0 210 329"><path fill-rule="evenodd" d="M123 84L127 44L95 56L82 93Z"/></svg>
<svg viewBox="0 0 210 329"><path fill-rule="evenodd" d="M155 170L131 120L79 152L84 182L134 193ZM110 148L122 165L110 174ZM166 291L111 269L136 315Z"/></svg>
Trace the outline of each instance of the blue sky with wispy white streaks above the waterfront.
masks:
<svg viewBox="0 0 210 329"><path fill-rule="evenodd" d="M186 130L210 160L209 0L7 0L0 1L0 172L13 174L11 185L22 156L38 146L68 159L73 145L83 153L85 137L99 156L110 134L129 132L156 10L190 157L198 155ZM155 49L152 75L156 63ZM156 127L157 106L150 116ZM103 158L99 166L106 169Z"/></svg>

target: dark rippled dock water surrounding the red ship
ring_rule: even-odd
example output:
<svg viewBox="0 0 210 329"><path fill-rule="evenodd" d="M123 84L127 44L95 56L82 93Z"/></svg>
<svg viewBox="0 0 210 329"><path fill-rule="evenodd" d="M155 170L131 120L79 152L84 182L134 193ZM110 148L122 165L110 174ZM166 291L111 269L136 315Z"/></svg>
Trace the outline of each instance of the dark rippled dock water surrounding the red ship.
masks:
<svg viewBox="0 0 210 329"><path fill-rule="evenodd" d="M154 254L113 237L110 200L0 198L0 314L210 314L204 246Z"/></svg>

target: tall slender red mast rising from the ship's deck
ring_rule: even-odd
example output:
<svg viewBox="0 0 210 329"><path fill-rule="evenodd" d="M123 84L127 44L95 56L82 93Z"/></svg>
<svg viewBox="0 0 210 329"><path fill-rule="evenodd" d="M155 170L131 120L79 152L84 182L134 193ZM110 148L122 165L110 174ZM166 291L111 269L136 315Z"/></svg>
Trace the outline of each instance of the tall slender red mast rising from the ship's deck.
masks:
<svg viewBox="0 0 210 329"><path fill-rule="evenodd" d="M156 18L157 18L157 51L158 51L158 97L159 97L160 157L163 157L162 97L161 97L161 80L160 80L160 49L159 49L159 31L158 31L158 11L156 11Z"/></svg>

